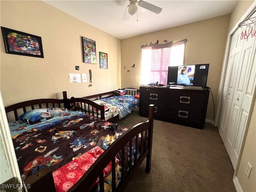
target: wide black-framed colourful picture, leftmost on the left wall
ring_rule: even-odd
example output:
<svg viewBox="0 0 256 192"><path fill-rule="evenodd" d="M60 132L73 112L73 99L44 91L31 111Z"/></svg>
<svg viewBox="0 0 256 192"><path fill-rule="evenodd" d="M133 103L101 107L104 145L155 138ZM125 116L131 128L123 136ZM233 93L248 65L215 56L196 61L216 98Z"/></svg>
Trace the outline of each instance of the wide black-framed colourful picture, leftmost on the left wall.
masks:
<svg viewBox="0 0 256 192"><path fill-rule="evenodd" d="M44 58L41 37L1 27L6 53Z"/></svg>

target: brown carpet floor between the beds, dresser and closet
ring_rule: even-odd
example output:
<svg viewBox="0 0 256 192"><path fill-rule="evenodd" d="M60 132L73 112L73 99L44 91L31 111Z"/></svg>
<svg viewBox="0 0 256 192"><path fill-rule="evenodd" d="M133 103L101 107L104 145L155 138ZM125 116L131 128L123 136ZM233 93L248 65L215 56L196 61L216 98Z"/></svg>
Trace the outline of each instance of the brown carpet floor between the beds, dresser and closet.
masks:
<svg viewBox="0 0 256 192"><path fill-rule="evenodd" d="M118 124L132 128L146 121L134 110ZM236 192L234 169L218 129L203 130L154 120L152 162L136 171L125 192Z"/></svg>

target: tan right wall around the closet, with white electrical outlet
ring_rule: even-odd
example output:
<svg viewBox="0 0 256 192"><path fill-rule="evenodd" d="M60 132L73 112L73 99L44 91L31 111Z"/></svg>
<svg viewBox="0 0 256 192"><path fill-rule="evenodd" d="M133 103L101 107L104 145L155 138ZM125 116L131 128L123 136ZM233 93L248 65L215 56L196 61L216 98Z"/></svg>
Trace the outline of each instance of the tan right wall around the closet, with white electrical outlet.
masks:
<svg viewBox="0 0 256 192"><path fill-rule="evenodd" d="M234 26L240 21L240 18L248 10L248 8L255 1L240 1L238 2L236 8L231 14L229 31L234 28ZM255 62L255 58L254 58ZM255 98L255 97L254 97ZM255 99L254 99L255 101ZM243 192L255 192L256 191L256 103L253 105L252 117L249 120L249 127L246 131L245 143L241 148L241 159L238 162L236 168L236 176L240 183ZM247 163L252 165L252 172L250 178L247 178L245 174Z"/></svg>

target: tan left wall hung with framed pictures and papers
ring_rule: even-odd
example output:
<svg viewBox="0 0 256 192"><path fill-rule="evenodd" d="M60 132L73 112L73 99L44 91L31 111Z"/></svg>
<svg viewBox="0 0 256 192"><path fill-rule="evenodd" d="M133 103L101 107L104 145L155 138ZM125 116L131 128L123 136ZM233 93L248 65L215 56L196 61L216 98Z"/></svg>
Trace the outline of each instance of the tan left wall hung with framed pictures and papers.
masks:
<svg viewBox="0 0 256 192"><path fill-rule="evenodd" d="M120 40L42 1L0 1L1 26L42 38L44 58L6 54L1 34L1 92L8 106L35 98L88 96L120 88ZM97 64L84 63L81 36L96 41ZM100 69L99 51L108 54ZM80 70L75 70L75 66ZM92 87L89 87L89 69ZM87 83L69 83L69 73L86 73Z"/></svg>

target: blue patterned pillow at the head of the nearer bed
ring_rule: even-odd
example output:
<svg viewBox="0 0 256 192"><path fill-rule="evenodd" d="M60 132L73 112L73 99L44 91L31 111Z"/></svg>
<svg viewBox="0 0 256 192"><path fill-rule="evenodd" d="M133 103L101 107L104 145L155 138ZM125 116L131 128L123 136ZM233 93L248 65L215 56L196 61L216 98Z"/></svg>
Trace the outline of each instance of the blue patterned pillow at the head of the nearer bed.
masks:
<svg viewBox="0 0 256 192"><path fill-rule="evenodd" d="M24 120L30 124L36 124L39 122L44 122L55 116L58 116L66 111L67 111L66 108L56 108L56 107L34 109L22 114L21 116L18 117L18 119Z"/></svg>

